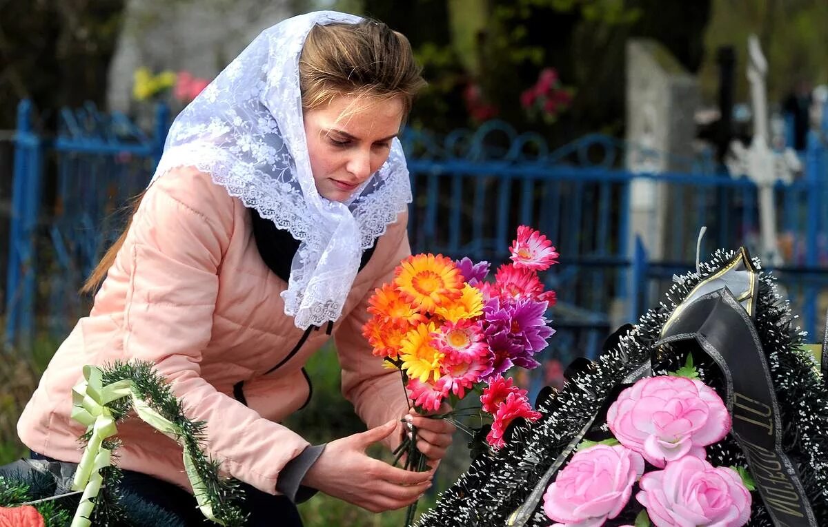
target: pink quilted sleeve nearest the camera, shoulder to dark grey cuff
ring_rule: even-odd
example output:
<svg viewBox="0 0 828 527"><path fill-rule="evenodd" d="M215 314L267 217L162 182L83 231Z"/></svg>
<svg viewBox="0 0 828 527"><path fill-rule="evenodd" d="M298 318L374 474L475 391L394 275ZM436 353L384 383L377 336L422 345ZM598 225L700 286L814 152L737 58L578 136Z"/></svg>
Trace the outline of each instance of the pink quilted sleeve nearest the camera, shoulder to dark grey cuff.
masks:
<svg viewBox="0 0 828 527"><path fill-rule="evenodd" d="M200 375L235 207L191 168L172 169L147 189L118 255L129 276L123 349L154 363L185 415L206 422L205 449L224 472L276 494L279 472L309 444Z"/></svg>

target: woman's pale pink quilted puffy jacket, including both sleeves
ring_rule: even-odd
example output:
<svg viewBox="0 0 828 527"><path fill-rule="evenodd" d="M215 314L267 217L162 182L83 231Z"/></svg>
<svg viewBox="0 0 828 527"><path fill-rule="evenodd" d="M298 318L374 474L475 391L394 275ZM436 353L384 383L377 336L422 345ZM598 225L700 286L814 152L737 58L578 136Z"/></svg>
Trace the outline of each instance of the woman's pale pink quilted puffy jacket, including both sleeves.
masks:
<svg viewBox="0 0 828 527"><path fill-rule="evenodd" d="M342 391L368 427L407 411L396 371L371 354L361 327L367 299L410 254L407 214L388 226L357 275L333 326ZM279 424L303 406L302 370L328 338L284 314L286 283L267 268L242 202L196 169L174 169L147 189L89 316L55 353L17 431L30 449L78 462L84 427L70 419L71 388L84 364L156 364L185 414L207 423L207 452L229 475L275 494L279 471L308 443ZM298 348L298 349L297 349ZM275 371L267 373L277 364ZM243 381L248 406L233 397ZM137 418L118 425L121 468L190 489L181 447Z"/></svg>

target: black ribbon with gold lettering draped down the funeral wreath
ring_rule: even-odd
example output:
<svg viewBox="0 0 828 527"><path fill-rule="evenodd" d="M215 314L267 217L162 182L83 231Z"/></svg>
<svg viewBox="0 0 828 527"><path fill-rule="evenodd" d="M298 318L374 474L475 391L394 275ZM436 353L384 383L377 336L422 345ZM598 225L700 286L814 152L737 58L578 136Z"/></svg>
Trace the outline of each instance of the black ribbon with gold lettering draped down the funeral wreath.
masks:
<svg viewBox="0 0 828 527"><path fill-rule="evenodd" d="M748 458L749 472L775 525L816 527L802 482L782 452L782 420L768 363L753 320L729 288L706 293L676 311L663 344L691 342L719 365L726 384L730 434Z"/></svg>

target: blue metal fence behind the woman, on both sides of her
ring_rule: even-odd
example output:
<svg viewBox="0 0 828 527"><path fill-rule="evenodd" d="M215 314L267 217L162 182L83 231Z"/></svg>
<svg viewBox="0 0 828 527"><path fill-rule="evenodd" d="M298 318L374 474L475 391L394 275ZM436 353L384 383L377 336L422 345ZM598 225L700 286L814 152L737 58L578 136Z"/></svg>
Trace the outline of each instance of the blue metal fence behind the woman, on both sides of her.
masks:
<svg viewBox="0 0 828 527"><path fill-rule="evenodd" d="M87 307L77 288L118 231L113 211L147 183L168 121L161 107L156 131L147 136L124 116L85 107L61 112L58 135L47 141L31 130L31 112L21 104L15 139L6 308L12 343L45 328L60 335ZM701 226L709 229L703 256L757 241L755 185L717 172L708 158L686 160L676 173L630 173L624 159L652 153L603 135L551 150L540 135L518 134L498 121L444 137L407 130L402 140L415 197L410 236L416 252L486 259L496 268L522 224L542 230L558 247L561 264L547 273L559 298L553 310L558 335L548 353L563 363L595 356L614 324L634 320L673 273L692 268ZM790 240L789 264L777 274L811 331L828 283L826 160L824 137L815 135L805 177L776 188L778 228ZM666 201L668 235L658 261L631 235L633 182L641 180L657 183ZM55 192L46 208L44 181Z"/></svg>

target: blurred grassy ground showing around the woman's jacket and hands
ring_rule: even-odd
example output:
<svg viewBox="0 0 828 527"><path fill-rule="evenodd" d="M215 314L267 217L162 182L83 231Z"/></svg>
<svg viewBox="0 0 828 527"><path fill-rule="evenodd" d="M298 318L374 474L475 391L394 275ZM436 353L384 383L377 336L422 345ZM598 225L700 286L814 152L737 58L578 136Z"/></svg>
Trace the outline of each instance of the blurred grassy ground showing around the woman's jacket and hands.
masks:
<svg viewBox="0 0 828 527"><path fill-rule="evenodd" d="M0 465L28 455L26 447L17 439L17 418L59 345L59 341L39 338L26 353L0 349ZM306 370L313 381L313 397L305 409L291 415L284 424L312 444L363 431L364 425L339 393L339 363L333 346L326 346L310 358ZM460 444L450 452L453 458L444 461L445 467L438 472L431 493L420 501L418 511L433 506L436 492L444 490L460 474L465 459L468 459L468 450L462 444L462 438L455 439L457 442ZM390 454L378 446L369 453L386 461L391 459ZM321 493L301 504L299 511L306 527L398 527L404 523L406 512L405 509L392 510L375 515Z"/></svg>

